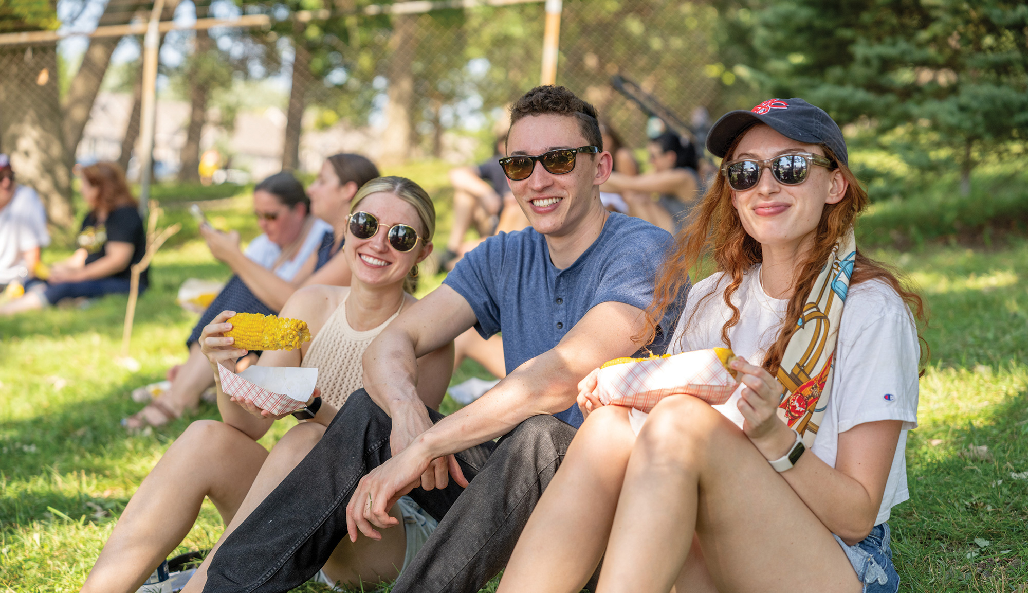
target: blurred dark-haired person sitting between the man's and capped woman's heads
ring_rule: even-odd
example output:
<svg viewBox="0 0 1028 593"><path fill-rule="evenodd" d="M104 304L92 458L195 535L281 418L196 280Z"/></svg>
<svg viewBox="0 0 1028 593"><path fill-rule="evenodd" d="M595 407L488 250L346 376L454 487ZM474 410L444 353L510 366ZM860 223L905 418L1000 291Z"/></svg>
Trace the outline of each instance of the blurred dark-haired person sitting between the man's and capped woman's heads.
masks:
<svg viewBox="0 0 1028 593"><path fill-rule="evenodd" d="M632 216L676 233L699 201L696 147L673 132L664 132L650 141L647 151L652 171L636 176L611 173L600 189L621 194Z"/></svg>

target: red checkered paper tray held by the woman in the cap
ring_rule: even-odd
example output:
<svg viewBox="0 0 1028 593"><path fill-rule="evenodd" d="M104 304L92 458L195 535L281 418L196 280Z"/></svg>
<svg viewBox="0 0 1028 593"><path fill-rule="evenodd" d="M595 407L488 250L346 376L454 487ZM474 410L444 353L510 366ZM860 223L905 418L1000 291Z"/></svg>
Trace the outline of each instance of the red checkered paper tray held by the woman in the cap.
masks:
<svg viewBox="0 0 1028 593"><path fill-rule="evenodd" d="M668 395L693 395L711 406L728 402L739 381L727 368L735 355L709 348L651 358L618 358L599 370L596 396L604 405L650 412Z"/></svg>

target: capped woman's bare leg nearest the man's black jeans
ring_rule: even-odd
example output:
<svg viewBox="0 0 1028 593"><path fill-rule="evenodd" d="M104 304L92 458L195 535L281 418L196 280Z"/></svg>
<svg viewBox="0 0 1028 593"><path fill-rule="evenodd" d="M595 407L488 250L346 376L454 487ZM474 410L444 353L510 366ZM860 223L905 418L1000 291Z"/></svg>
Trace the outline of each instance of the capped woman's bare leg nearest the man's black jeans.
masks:
<svg viewBox="0 0 1028 593"><path fill-rule="evenodd" d="M582 590L603 556L634 441L628 408L589 415L521 532L498 593Z"/></svg>

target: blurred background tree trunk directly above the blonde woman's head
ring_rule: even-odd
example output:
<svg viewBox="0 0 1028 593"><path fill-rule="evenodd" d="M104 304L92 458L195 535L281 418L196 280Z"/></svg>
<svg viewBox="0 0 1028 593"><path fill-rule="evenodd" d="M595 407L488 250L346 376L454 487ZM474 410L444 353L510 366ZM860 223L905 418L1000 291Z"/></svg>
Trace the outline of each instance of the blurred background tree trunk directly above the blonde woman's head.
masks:
<svg viewBox="0 0 1028 593"><path fill-rule="evenodd" d="M414 73L411 66L416 53L416 19L413 14L393 18L393 37L389 42L389 104L382 134L381 162L384 164L405 163L414 143Z"/></svg>

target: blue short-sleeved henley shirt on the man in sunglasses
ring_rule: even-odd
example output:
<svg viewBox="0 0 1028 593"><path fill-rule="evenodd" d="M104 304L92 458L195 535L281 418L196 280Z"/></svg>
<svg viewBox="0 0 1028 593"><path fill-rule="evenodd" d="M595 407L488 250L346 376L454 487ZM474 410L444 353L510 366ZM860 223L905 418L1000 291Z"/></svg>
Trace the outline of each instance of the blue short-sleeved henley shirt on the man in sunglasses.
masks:
<svg viewBox="0 0 1028 593"><path fill-rule="evenodd" d="M528 226L486 239L464 256L443 281L471 305L475 328L504 341L507 372L551 350L590 309L625 303L646 309L653 301L657 271L671 248L664 230L631 216L611 213L599 237L570 267L550 260L543 235ZM684 309L688 287L661 322L650 350L662 353ZM582 424L578 406L554 414Z"/></svg>

